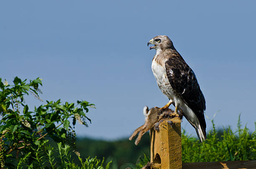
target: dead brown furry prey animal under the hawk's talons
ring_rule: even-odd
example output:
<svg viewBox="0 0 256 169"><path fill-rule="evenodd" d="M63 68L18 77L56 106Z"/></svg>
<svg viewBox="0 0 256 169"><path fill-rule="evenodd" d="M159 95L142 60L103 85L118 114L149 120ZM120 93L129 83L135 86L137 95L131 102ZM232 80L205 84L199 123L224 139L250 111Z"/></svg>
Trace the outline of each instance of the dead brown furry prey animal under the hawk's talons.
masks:
<svg viewBox="0 0 256 169"><path fill-rule="evenodd" d="M167 108L164 111L160 111L160 108L153 107L148 110L148 106L145 106L143 108L143 114L145 115L145 123L138 127L129 140L132 140L138 133L138 137L135 140L135 145L138 145L138 143L141 141L141 137L143 134L145 134L148 130L152 129L154 127L154 130L159 131L159 124L164 119L179 117L179 119L182 120L182 112L178 111L178 113L174 113L173 110ZM172 124L172 121L167 121L169 124Z"/></svg>

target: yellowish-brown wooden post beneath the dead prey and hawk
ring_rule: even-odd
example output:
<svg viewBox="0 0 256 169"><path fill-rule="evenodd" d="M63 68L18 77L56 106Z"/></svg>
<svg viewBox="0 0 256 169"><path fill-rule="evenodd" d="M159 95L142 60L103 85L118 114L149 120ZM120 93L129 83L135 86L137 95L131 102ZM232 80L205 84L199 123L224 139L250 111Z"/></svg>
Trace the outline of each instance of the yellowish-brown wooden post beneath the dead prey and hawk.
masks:
<svg viewBox="0 0 256 169"><path fill-rule="evenodd" d="M159 132L150 130L150 162L161 169L182 169L181 127L178 117L164 120L159 125Z"/></svg>

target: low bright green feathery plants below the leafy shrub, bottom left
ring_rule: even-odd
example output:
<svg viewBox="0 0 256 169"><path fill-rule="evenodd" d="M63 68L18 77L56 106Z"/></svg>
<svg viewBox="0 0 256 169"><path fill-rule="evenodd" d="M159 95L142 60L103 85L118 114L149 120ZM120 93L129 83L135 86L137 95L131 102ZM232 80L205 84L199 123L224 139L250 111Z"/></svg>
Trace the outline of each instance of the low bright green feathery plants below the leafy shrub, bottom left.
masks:
<svg viewBox="0 0 256 169"><path fill-rule="evenodd" d="M43 151L41 151L41 148L46 145L47 141L42 141L40 144L38 144L38 149L36 150L38 152L38 155L36 157L31 156L31 153L25 154L24 156L21 156L18 160L17 169L22 168L36 168L36 169L109 169L110 168L110 162L104 167L102 161L95 158L88 157L84 161L80 157L79 152L77 151L71 151L70 146L65 144L58 143L58 146L54 149L51 146L48 146L48 153L47 156L44 155ZM57 152L57 155L54 156L53 152ZM74 163L74 158L72 158L71 154L76 154L76 156L79 158L80 164ZM28 163L28 158L34 159L32 163Z"/></svg>

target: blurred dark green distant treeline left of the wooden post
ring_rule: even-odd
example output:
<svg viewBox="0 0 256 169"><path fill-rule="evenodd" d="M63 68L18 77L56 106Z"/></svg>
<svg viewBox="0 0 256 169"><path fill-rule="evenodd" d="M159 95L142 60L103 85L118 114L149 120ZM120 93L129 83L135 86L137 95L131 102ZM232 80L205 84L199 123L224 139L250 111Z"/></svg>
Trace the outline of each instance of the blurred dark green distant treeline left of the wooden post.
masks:
<svg viewBox="0 0 256 169"><path fill-rule="evenodd" d="M150 156L149 133L142 137L138 146L128 138L117 141L77 138L76 146L82 158L97 156L98 159L105 157L106 162L112 160L111 169L134 165L143 154Z"/></svg>

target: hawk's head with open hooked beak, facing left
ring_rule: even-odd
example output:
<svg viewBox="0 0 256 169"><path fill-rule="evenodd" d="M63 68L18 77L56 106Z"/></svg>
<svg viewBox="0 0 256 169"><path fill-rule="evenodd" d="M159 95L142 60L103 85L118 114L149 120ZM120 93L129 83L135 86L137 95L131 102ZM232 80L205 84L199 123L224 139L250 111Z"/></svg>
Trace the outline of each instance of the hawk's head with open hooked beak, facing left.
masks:
<svg viewBox="0 0 256 169"><path fill-rule="evenodd" d="M149 40L148 45L153 44L154 46L149 47L149 49L161 49L165 50L167 48L174 48L172 44L172 40L168 38L166 35L159 35Z"/></svg>

